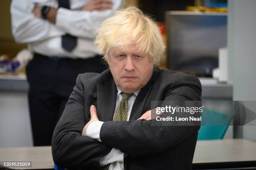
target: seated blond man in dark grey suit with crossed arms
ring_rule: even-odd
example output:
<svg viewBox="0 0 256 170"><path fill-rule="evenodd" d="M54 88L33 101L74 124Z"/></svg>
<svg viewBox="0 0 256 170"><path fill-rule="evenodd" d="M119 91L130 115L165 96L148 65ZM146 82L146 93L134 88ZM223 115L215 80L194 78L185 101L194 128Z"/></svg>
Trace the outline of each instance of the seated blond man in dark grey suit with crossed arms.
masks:
<svg viewBox="0 0 256 170"><path fill-rule="evenodd" d="M135 7L105 20L95 43L109 69L79 74L54 130L60 167L188 170L200 126L153 126L151 101L200 101L195 77L156 64L164 43L156 23Z"/></svg>

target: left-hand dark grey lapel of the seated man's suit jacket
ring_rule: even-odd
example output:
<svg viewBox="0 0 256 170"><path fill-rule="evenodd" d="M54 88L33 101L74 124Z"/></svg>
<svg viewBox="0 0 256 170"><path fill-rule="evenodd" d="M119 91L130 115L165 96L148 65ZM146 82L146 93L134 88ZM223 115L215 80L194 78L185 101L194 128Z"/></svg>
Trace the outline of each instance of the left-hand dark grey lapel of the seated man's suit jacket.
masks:
<svg viewBox="0 0 256 170"><path fill-rule="evenodd" d="M113 78L97 84L97 110L100 121L112 121L115 112L117 89Z"/></svg>

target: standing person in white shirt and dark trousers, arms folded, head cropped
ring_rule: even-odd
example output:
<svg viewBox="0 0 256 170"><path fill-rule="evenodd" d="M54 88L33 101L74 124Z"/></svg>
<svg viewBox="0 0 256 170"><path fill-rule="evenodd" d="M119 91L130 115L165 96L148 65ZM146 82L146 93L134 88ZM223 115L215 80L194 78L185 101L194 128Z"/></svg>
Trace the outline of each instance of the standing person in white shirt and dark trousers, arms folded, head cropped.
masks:
<svg viewBox="0 0 256 170"><path fill-rule="evenodd" d="M34 54L26 71L35 146L51 145L77 75L106 69L94 32L122 6L122 0L12 1L14 39Z"/></svg>

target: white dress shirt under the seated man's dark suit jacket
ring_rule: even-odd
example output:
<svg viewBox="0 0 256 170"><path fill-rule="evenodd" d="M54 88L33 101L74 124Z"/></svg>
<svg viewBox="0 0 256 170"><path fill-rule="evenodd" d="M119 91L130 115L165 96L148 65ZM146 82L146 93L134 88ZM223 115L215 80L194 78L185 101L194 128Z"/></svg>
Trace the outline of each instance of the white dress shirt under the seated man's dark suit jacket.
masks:
<svg viewBox="0 0 256 170"><path fill-rule="evenodd" d="M120 91L120 89L118 89L118 93L116 96L116 103L115 103L115 111L118 108L120 101L122 100L121 92L122 91ZM127 121L130 119L133 103L134 103L136 97L138 96L139 92L140 92L140 90L133 92L133 96L131 96L128 100ZM101 122L101 121L92 122L87 127L86 136L91 137L95 140L101 141L100 140L100 128L103 123L104 122ZM124 153L121 152L120 150L118 150L116 148L112 148L112 150L108 153L108 155L106 155L105 157L100 159L100 165L104 166L104 165L108 165L109 163L111 163L109 166L109 170L123 170L124 169L123 155L124 155Z"/></svg>

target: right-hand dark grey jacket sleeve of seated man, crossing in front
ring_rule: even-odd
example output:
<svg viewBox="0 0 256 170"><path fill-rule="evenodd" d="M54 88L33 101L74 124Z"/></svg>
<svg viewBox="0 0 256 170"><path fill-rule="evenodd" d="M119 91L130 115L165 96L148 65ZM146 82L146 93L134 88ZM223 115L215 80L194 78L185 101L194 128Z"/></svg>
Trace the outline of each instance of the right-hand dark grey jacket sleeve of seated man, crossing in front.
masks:
<svg viewBox="0 0 256 170"><path fill-rule="evenodd" d="M201 84L195 76L183 76L165 90L165 101L201 101ZM152 120L104 122L102 143L128 152L132 157L155 154L183 142L200 126L152 126Z"/></svg>

